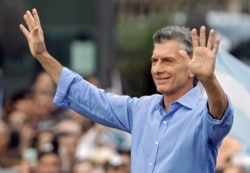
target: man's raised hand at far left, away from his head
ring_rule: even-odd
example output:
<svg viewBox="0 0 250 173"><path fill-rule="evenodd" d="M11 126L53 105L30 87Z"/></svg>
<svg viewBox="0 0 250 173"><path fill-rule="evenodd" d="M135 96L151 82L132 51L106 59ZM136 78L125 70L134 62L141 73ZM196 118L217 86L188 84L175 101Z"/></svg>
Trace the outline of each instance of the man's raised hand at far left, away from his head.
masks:
<svg viewBox="0 0 250 173"><path fill-rule="evenodd" d="M46 52L44 34L37 10L33 9L32 12L26 11L23 18L27 28L22 24L19 27L29 43L31 54L37 58Z"/></svg>

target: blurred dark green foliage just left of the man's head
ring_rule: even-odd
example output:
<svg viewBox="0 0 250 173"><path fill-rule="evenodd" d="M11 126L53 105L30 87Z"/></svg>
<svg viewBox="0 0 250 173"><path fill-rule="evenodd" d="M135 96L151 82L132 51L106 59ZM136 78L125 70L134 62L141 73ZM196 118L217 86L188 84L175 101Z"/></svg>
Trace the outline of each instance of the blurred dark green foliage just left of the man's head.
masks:
<svg viewBox="0 0 250 173"><path fill-rule="evenodd" d="M118 25L118 68L124 94L141 96L154 92L150 66L154 32L168 25L166 14L126 16Z"/></svg>

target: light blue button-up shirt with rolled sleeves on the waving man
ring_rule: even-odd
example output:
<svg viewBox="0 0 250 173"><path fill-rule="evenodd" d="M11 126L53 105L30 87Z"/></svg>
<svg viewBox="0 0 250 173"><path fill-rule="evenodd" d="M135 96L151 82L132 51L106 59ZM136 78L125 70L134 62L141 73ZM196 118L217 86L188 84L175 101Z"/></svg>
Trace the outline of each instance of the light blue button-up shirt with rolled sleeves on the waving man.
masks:
<svg viewBox="0 0 250 173"><path fill-rule="evenodd" d="M67 68L54 103L132 134L132 173L213 173L218 147L233 123L231 103L221 120L209 115L195 87L169 107L163 95L140 98L106 93Z"/></svg>

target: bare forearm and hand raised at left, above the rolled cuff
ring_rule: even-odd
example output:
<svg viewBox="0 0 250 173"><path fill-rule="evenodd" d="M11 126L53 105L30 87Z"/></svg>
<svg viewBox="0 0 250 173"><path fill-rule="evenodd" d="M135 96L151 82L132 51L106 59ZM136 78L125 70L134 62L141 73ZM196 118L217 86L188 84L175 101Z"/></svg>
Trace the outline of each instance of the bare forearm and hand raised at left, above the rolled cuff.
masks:
<svg viewBox="0 0 250 173"><path fill-rule="evenodd" d="M46 49L43 29L37 10L26 11L23 18L27 28L20 24L20 29L29 43L31 54L40 62L55 84L58 84L63 66Z"/></svg>

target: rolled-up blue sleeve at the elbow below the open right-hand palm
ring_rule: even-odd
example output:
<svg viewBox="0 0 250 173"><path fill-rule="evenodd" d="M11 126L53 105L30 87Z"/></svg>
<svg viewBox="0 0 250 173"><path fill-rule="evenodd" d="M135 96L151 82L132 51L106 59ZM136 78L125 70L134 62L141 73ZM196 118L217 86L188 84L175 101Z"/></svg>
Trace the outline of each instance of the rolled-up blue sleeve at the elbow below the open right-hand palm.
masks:
<svg viewBox="0 0 250 173"><path fill-rule="evenodd" d="M233 119L234 119L234 110L230 99L228 99L228 105L226 111L221 119L214 119L207 108L207 130L208 136L215 144L219 144L222 139L230 132Z"/></svg>

